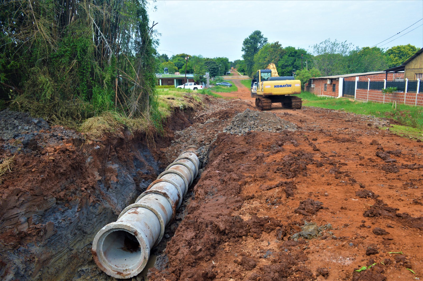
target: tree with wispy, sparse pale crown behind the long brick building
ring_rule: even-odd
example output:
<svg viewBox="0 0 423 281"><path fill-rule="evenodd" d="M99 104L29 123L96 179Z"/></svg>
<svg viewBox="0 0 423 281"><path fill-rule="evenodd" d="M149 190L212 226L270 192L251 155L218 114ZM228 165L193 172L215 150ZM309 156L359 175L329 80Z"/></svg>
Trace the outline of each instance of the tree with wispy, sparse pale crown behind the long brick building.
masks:
<svg viewBox="0 0 423 281"><path fill-rule="evenodd" d="M313 65L324 76L346 74L348 72L347 57L354 47L346 41L330 41L326 39L320 44L313 45Z"/></svg>

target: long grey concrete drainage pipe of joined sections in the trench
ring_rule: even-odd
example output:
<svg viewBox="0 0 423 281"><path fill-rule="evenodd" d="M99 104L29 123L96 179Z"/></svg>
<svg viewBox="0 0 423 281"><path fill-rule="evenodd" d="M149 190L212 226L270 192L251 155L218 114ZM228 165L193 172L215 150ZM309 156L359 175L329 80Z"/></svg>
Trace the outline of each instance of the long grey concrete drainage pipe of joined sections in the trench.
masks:
<svg viewBox="0 0 423 281"><path fill-rule="evenodd" d="M101 270L126 279L144 269L151 248L162 240L165 226L175 217L198 174L200 161L195 150L191 146L182 152L118 220L97 233L91 252Z"/></svg>

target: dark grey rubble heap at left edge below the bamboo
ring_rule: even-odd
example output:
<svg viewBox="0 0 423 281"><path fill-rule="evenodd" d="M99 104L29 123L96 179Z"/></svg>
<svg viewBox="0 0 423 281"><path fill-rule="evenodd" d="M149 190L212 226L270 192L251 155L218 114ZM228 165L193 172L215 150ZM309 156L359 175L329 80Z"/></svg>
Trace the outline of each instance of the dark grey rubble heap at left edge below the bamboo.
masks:
<svg viewBox="0 0 423 281"><path fill-rule="evenodd" d="M27 132L48 129L50 126L41 118L32 118L28 113L6 108L0 112L0 138L18 138Z"/></svg>

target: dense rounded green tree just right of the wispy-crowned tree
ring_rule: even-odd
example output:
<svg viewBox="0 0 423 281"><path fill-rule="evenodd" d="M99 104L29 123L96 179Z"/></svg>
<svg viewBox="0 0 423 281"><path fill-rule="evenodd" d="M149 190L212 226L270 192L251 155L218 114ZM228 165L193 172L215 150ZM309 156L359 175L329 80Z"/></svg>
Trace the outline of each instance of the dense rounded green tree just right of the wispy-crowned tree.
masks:
<svg viewBox="0 0 423 281"><path fill-rule="evenodd" d="M348 72L363 73L382 71L388 68L387 56L378 47L363 47L352 50L348 56Z"/></svg>

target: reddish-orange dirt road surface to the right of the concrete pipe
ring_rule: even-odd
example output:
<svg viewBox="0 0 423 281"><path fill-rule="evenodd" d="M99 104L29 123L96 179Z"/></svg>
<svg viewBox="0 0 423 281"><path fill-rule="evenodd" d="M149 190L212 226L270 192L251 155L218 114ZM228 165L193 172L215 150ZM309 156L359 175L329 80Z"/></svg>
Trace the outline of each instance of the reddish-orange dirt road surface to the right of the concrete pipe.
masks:
<svg viewBox="0 0 423 281"><path fill-rule="evenodd" d="M150 280L422 278L421 143L313 107L272 109L297 129L244 132L262 113L237 86L222 95L241 100L214 103L184 131L211 142L208 164Z"/></svg>

